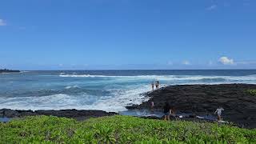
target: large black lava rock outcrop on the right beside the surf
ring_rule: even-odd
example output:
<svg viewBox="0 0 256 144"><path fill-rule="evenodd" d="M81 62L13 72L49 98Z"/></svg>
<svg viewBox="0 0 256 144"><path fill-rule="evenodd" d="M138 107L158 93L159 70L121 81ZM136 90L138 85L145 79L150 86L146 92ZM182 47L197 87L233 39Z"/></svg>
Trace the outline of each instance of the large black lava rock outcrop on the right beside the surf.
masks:
<svg viewBox="0 0 256 144"><path fill-rule="evenodd" d="M147 93L148 102L141 105L126 106L129 110L148 109L154 102L155 110L162 110L166 102L173 106L176 112L213 115L218 106L222 106L222 118L225 121L246 127L256 128L256 97L247 90L256 90L256 85L250 84L220 84L220 85L178 85L167 86L161 90Z"/></svg>

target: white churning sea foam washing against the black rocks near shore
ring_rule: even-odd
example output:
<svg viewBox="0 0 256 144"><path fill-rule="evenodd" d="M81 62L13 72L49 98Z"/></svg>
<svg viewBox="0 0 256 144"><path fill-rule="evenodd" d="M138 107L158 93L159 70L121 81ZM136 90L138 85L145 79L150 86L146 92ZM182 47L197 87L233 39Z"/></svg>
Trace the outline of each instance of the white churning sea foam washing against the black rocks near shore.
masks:
<svg viewBox="0 0 256 144"><path fill-rule="evenodd" d="M140 104L146 101L142 93L149 91L148 86L139 86L129 90L110 90L109 97L96 97L88 94L69 95L53 94L42 97L14 97L0 98L0 109L22 109L22 110L105 110L123 111L125 106L133 103ZM86 103L92 101L92 103Z"/></svg>

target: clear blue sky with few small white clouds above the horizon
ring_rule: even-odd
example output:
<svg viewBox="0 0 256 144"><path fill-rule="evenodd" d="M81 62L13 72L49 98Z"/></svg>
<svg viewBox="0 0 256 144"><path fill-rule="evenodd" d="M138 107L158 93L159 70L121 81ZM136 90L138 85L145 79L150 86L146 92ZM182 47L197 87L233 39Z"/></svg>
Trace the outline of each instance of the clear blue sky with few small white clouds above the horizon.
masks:
<svg viewBox="0 0 256 144"><path fill-rule="evenodd" d="M255 69L254 0L6 0L0 66Z"/></svg>

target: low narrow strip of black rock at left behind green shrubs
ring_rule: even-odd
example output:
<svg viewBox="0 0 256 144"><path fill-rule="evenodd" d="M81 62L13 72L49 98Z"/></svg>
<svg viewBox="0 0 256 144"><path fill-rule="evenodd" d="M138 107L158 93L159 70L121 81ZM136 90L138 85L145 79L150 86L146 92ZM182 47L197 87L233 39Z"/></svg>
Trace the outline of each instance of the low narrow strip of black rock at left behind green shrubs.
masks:
<svg viewBox="0 0 256 144"><path fill-rule="evenodd" d="M52 115L56 117L74 118L78 121L85 120L87 118L98 118L104 116L115 115L114 112L106 112L102 110L0 110L0 117L7 118L22 118L25 116L35 115Z"/></svg>

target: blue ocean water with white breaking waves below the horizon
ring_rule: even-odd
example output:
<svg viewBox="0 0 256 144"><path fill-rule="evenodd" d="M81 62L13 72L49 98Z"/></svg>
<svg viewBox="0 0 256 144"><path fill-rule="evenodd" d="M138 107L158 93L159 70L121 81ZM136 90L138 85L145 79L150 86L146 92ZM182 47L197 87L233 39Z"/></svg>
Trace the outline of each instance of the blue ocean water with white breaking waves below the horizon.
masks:
<svg viewBox="0 0 256 144"><path fill-rule="evenodd" d="M256 84L256 70L79 70L0 74L0 109L125 111L146 101L150 83Z"/></svg>

